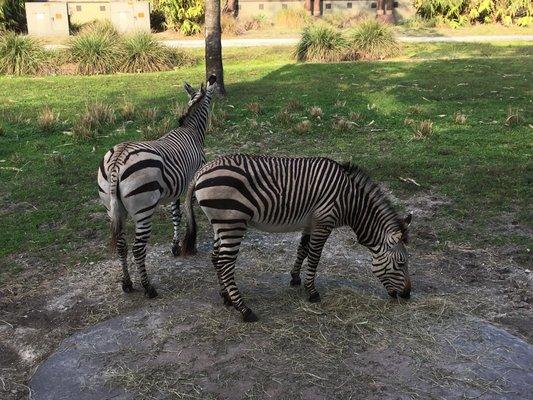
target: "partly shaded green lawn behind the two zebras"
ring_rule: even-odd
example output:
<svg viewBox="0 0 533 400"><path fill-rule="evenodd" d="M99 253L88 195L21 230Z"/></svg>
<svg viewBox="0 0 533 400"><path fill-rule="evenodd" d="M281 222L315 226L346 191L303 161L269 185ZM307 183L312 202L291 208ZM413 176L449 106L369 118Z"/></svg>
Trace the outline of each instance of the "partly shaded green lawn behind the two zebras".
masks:
<svg viewBox="0 0 533 400"><path fill-rule="evenodd" d="M418 53L446 56L449 46L420 46ZM484 51L463 45L457 59L297 64L291 48L225 50L228 96L215 107L227 121L208 135L208 157L240 151L352 160L400 197L429 191L448 196L453 202L435 219L441 243L525 244L526 236L501 233L495 221L504 212L512 216L509 222L531 218L531 47L484 45ZM22 252L52 264L79 260L86 255L80 249L94 242L101 243L100 254L90 260L105 256L107 224L94 217L103 210L97 166L112 145L142 137L142 122L123 125L118 117L103 135L85 141L72 136L72 125L94 101L112 105L117 115L131 103L135 112L158 107L162 117L170 116L176 101L185 100L183 81L199 84L203 75L203 65L196 65L143 75L0 77L0 264L15 264L14 255ZM324 113L308 131L276 118L294 99L302 105L291 111L294 126L310 119L311 106ZM259 115L247 108L253 102L260 104ZM61 118L52 133L37 128L45 106ZM510 106L523 119L512 127L504 124ZM464 124L454 121L457 111L467 116ZM350 113L358 113L357 126L332 129ZM414 140L407 117L431 120L432 133ZM152 243L169 242L170 232L169 218L161 215Z"/></svg>

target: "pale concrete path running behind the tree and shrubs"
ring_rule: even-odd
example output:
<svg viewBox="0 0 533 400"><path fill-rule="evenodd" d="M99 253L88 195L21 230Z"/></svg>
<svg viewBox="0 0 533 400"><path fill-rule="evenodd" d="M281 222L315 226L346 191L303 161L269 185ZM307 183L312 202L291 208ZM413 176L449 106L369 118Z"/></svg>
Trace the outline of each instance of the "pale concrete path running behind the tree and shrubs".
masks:
<svg viewBox="0 0 533 400"><path fill-rule="evenodd" d="M223 39L222 47L261 47L261 46L294 46L298 42L298 37L293 38L255 38L255 39ZM533 35L484 35L484 36L399 36L398 40L407 43L429 43L429 42L458 42L458 43L478 43L478 42L507 42L507 41L533 41ZM205 42L201 39L195 40L163 40L169 47L180 48L202 48ZM47 49L62 49L67 46L62 44L45 45Z"/></svg>

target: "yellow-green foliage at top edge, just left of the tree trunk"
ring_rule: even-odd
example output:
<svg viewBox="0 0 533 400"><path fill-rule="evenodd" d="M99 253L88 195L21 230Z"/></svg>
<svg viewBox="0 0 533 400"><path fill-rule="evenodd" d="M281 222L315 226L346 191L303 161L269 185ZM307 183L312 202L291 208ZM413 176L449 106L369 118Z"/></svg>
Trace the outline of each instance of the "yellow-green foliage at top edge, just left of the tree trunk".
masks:
<svg viewBox="0 0 533 400"><path fill-rule="evenodd" d="M199 33L205 15L202 0L155 0L153 9L164 15L165 28L179 30L184 35Z"/></svg>

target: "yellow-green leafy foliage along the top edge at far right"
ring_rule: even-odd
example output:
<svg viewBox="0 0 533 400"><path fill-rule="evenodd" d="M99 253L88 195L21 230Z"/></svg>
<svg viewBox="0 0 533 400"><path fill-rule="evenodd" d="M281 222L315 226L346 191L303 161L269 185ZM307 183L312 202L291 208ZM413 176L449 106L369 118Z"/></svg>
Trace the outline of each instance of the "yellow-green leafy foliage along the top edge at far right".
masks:
<svg viewBox="0 0 533 400"><path fill-rule="evenodd" d="M500 22L527 26L533 21L530 0L415 0L419 15L452 27Z"/></svg>

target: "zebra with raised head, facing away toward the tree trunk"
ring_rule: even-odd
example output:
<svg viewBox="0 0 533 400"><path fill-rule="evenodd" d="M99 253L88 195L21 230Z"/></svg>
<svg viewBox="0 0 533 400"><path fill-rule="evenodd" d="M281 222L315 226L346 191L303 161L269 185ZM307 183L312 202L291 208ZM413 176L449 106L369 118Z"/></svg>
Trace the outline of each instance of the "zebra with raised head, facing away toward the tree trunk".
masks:
<svg viewBox="0 0 533 400"><path fill-rule="evenodd" d="M172 202L174 237L172 253L179 254L180 196L194 173L205 162L204 136L209 105L216 85L212 75L204 89L184 87L189 95L187 112L179 127L163 137L147 142L124 142L109 150L98 170L100 199L111 220L111 245L116 247L122 264L122 289L133 290L128 272L128 246L125 219L135 222L133 257L147 297L157 296L146 274L146 244L150 237L152 216L158 204Z"/></svg>

